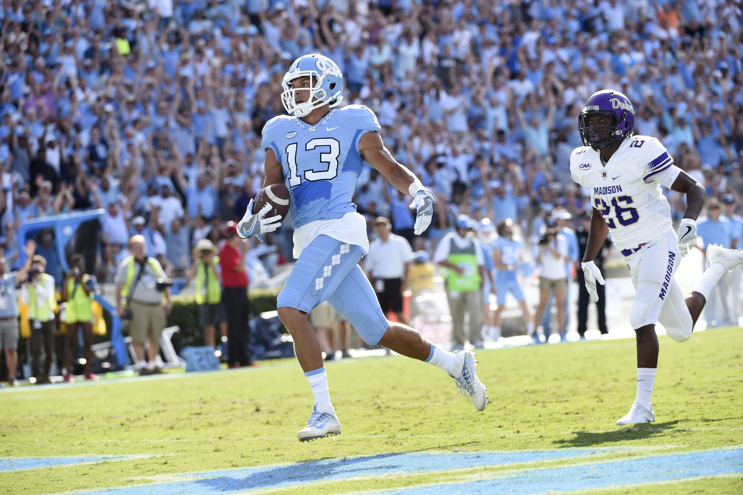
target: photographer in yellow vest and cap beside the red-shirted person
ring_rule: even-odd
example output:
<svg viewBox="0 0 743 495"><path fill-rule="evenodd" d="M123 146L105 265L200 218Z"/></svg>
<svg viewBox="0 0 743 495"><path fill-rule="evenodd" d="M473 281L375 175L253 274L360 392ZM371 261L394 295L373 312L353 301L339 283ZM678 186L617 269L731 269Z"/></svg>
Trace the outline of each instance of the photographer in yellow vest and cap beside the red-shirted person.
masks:
<svg viewBox="0 0 743 495"><path fill-rule="evenodd" d="M196 279L196 304L199 320L204 328L204 345L214 347L214 327L224 326L226 317L221 305L222 288L219 283L219 256L216 247L209 239L201 239L193 248L193 265L188 282ZM186 283L188 283L186 282ZM222 329L226 334L227 329Z"/></svg>

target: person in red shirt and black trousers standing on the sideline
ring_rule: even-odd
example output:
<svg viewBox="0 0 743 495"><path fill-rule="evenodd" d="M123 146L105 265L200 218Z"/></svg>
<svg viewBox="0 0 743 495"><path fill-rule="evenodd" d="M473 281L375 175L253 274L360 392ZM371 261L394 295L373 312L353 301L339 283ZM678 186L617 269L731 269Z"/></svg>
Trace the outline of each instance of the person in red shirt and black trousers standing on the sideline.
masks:
<svg viewBox="0 0 743 495"><path fill-rule="evenodd" d="M237 235L237 224L230 221L224 229L224 242L219 250L219 266L222 274L222 304L227 314L227 365L256 366L248 346L250 327L247 325L250 314L250 301L247 299L247 271L245 254L247 240Z"/></svg>

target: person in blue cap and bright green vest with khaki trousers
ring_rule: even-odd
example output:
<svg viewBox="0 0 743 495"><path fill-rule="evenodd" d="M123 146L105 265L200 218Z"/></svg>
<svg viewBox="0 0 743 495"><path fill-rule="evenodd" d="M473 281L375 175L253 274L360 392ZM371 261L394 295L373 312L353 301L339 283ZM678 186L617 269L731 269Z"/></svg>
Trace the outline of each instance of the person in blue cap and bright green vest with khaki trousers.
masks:
<svg viewBox="0 0 743 495"><path fill-rule="evenodd" d="M470 217L460 215L455 219L454 232L447 233L436 246L433 261L445 268L447 299L452 314L452 331L455 346L464 347L464 313L470 315L467 334L470 344L482 343L482 288L485 279L485 261L480 242L469 234Z"/></svg>

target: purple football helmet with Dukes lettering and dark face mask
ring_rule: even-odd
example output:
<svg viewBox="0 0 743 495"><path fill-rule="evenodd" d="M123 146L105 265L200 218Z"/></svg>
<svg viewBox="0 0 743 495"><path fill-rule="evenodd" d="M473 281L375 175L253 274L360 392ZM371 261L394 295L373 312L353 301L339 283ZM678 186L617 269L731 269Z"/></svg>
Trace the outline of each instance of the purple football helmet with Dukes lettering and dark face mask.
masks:
<svg viewBox="0 0 743 495"><path fill-rule="evenodd" d="M608 115L604 126L591 126L591 115ZM578 130L583 146L591 146L600 152L617 141L630 138L635 129L635 108L629 98L619 91L604 89L591 94L583 111L578 115Z"/></svg>

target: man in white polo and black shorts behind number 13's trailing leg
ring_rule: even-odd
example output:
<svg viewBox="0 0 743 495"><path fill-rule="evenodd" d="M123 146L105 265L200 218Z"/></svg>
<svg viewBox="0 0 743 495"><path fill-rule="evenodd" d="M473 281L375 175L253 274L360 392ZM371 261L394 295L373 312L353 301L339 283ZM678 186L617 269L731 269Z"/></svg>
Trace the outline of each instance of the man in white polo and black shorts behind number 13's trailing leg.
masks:
<svg viewBox="0 0 743 495"><path fill-rule="evenodd" d="M387 315L394 311L400 323L407 325L403 316L403 291L413 250L404 237L390 232L392 224L386 217L377 217L374 230L379 237L369 244L369 254L364 259L366 276L374 286L382 312Z"/></svg>

